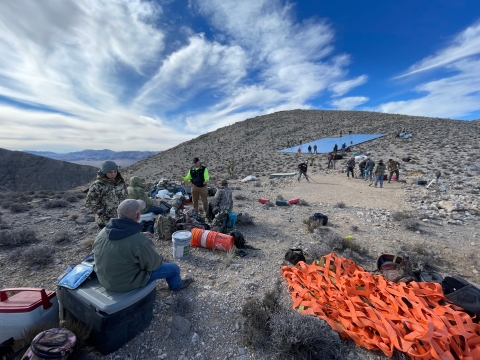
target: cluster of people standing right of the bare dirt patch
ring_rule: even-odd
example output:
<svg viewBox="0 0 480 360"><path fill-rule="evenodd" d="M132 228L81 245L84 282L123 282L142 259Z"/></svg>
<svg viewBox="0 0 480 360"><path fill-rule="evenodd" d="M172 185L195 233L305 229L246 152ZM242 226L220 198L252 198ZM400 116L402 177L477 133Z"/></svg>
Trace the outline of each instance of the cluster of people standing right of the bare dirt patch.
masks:
<svg viewBox="0 0 480 360"><path fill-rule="evenodd" d="M358 164L358 167L360 169L360 174L365 181L370 180L373 182L373 176L375 176L375 187L377 187L378 183L380 183L381 188L383 187L383 180L386 172L388 172L388 182L392 180L393 174L395 174L395 181L400 179L400 163L393 159L388 159L386 165L383 163L383 160L379 160L378 164L375 166L375 162L371 158L367 158L363 159ZM352 178L355 177L353 171L354 168L355 158L352 157L347 161L347 177L350 177L350 174L352 174Z"/></svg>

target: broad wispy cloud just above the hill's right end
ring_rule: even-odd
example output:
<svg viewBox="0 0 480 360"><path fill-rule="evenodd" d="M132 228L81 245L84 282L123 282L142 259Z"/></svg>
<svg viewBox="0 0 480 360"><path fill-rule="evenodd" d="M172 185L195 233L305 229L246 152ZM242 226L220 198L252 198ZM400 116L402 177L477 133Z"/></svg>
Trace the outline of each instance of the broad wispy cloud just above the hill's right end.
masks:
<svg viewBox="0 0 480 360"><path fill-rule="evenodd" d="M460 117L480 110L480 60L461 60L448 66L457 75L421 84L415 88L427 95L406 101L392 101L376 110L418 116Z"/></svg>

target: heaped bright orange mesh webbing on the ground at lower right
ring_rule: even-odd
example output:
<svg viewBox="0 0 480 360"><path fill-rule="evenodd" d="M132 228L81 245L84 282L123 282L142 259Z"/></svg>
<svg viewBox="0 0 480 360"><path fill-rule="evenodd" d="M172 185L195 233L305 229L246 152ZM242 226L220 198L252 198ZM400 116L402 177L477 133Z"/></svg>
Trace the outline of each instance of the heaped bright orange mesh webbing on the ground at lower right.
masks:
<svg viewBox="0 0 480 360"><path fill-rule="evenodd" d="M480 359L480 325L443 297L440 284L393 283L329 254L283 267L293 308L322 318L358 346L411 359Z"/></svg>

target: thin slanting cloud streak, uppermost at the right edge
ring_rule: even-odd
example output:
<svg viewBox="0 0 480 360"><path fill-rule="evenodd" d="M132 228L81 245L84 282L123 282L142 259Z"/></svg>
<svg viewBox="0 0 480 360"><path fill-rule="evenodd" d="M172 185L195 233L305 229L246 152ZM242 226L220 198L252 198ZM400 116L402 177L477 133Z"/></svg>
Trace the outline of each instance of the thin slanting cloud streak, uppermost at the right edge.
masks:
<svg viewBox="0 0 480 360"><path fill-rule="evenodd" d="M480 22L469 26L455 37L451 45L412 65L398 78L443 67L477 54L480 54Z"/></svg>

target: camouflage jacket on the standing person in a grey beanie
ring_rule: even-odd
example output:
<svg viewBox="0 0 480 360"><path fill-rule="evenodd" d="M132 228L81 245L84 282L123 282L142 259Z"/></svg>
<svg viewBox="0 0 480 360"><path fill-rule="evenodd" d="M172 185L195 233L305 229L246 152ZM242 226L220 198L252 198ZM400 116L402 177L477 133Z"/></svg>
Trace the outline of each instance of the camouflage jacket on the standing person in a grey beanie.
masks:
<svg viewBox="0 0 480 360"><path fill-rule="evenodd" d="M113 180L98 175L88 190L85 205L95 214L97 224L106 225L117 217L117 207L126 198L127 186L120 173Z"/></svg>

